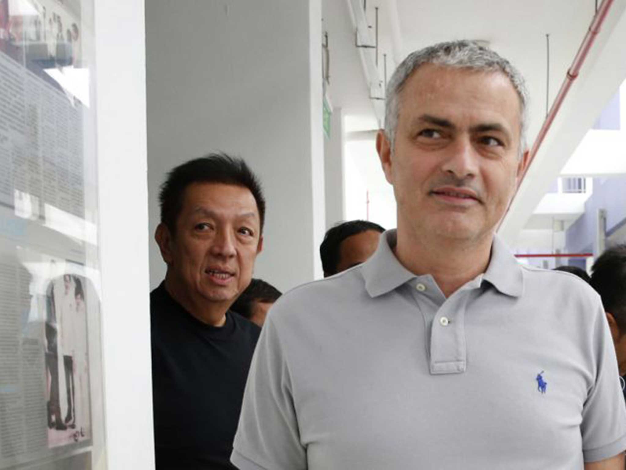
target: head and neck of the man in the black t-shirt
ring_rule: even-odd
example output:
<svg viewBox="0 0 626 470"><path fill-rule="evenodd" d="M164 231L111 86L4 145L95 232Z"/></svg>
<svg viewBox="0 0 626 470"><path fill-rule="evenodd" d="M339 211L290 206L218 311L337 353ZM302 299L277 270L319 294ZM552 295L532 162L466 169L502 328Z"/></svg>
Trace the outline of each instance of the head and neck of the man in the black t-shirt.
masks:
<svg viewBox="0 0 626 470"><path fill-rule="evenodd" d="M244 160L210 154L175 167L160 204L155 238L167 263L165 289L193 316L221 326L262 250L259 180Z"/></svg>

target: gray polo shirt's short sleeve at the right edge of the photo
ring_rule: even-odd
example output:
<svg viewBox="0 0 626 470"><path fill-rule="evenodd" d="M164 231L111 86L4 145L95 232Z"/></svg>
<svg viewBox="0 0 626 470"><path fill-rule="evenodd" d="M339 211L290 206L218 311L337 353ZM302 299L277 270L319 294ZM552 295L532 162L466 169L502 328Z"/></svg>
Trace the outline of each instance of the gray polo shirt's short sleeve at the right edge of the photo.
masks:
<svg viewBox="0 0 626 470"><path fill-rule="evenodd" d="M585 462L608 459L626 449L626 405L602 305L595 316L592 341L596 377L583 407L581 424Z"/></svg>

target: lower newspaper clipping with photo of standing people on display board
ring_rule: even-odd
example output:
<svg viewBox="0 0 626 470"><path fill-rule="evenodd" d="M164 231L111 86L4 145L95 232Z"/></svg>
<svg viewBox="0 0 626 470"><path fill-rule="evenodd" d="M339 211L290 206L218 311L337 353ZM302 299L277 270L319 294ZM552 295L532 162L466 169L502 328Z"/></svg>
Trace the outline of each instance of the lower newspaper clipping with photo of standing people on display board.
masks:
<svg viewBox="0 0 626 470"><path fill-rule="evenodd" d="M6 246L0 236L0 469L78 452L80 466L58 468L89 469L98 294L83 265Z"/></svg>

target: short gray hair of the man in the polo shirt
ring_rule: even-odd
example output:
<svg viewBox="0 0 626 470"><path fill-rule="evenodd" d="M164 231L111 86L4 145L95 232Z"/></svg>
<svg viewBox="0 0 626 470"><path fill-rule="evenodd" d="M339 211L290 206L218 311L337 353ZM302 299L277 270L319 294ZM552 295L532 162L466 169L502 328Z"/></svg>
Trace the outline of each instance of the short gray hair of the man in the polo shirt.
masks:
<svg viewBox="0 0 626 470"><path fill-rule="evenodd" d="M385 134L391 145L391 152L394 151L400 112L400 93L404 83L409 76L413 75L414 71L427 63L475 71L504 73L520 97L520 155L523 154L526 148L526 106L528 105L528 91L526 91L524 78L508 60L490 48L473 41L439 43L414 51L396 68L391 80L387 83L385 102Z"/></svg>

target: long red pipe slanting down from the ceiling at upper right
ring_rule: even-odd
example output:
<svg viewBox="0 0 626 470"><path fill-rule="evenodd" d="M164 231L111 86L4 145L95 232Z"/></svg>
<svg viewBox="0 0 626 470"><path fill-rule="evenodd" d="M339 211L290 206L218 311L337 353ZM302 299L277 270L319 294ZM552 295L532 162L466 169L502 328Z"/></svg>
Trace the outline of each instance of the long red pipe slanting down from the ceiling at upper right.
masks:
<svg viewBox="0 0 626 470"><path fill-rule="evenodd" d="M550 112L546 116L546 120L543 122L543 126L541 126L541 130L537 134L537 138L535 139L535 144L533 144L532 149L530 150L530 154L528 155L528 165L526 165L526 170L521 176L521 181L526 177L526 172L530 168L530 164L535 159L535 155L543 142L543 139L546 137L548 130L552 126L552 122L557 117L558 110L560 110L567 93L570 91L570 87L576 78L578 78L578 73L580 73L580 69L585 63L585 59L593 46L593 42L595 41L596 36L600 33L600 28L602 28L602 24L604 20L607 18L608 10L611 8L613 4L613 0L604 0L598 8L591 25L589 26L589 30L587 31L587 35L583 42L580 44L580 48L578 49L578 53L572 62L572 66L567 71L567 75L565 75L565 80L563 81L563 85L561 85L561 89L558 91L558 95L552 103L552 107L550 108Z"/></svg>

